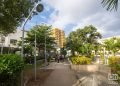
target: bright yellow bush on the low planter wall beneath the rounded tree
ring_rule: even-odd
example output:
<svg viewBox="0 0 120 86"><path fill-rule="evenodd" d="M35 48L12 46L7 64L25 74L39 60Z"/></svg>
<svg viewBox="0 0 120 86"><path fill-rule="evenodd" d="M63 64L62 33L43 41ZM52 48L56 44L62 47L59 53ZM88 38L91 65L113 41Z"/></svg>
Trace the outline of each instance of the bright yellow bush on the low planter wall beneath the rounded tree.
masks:
<svg viewBox="0 0 120 86"><path fill-rule="evenodd" d="M76 64L76 65L91 64L91 59L85 56L72 57L71 61L73 64Z"/></svg>

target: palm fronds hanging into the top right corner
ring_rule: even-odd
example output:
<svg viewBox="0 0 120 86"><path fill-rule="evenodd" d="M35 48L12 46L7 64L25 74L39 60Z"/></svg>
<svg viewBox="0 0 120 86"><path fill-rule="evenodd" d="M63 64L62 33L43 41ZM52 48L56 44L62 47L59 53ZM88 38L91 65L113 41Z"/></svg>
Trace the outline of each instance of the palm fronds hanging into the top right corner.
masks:
<svg viewBox="0 0 120 86"><path fill-rule="evenodd" d="M120 0L102 0L103 7L106 7L107 10L117 10Z"/></svg>

